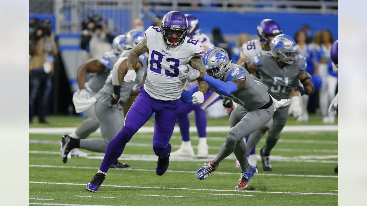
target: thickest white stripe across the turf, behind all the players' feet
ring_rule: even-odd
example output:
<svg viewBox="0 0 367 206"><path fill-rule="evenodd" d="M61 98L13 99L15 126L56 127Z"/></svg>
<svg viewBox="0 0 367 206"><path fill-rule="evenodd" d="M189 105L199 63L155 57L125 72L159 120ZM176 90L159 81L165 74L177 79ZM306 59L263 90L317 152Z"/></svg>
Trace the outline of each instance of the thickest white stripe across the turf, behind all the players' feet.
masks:
<svg viewBox="0 0 367 206"><path fill-rule="evenodd" d="M76 127L38 127L38 128L29 128L30 134L44 134L44 133L57 133L57 134L65 134L71 133L76 129ZM229 126L207 126L207 131L210 132L228 132ZM190 126L190 132L197 132L196 126ZM284 126L282 132L333 132L338 131L338 125L287 125ZM96 132L101 133L101 130L98 129ZM147 133L154 132L154 126L142 126L139 129L139 133ZM180 132L178 126L175 126L173 132Z"/></svg>

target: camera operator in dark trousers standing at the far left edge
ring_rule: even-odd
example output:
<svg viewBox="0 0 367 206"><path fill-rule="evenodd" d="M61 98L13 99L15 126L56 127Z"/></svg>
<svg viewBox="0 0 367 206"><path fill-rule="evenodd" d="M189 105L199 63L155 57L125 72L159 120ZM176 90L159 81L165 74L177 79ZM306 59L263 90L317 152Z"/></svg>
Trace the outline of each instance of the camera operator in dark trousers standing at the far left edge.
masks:
<svg viewBox="0 0 367 206"><path fill-rule="evenodd" d="M31 25L32 24L32 25ZM51 22L46 19L39 25L30 22L29 34L29 123L34 115L34 102L38 100L38 117L40 123L47 123L45 119L47 97L51 91L51 74L54 69L54 55L58 49L53 35Z"/></svg>

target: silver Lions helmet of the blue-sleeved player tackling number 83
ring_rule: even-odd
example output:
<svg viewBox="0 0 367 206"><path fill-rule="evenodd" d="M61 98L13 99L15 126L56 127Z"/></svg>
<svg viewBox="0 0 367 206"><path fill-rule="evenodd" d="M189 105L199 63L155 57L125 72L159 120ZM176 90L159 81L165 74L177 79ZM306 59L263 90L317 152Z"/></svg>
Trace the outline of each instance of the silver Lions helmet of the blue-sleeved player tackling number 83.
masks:
<svg viewBox="0 0 367 206"><path fill-rule="evenodd" d="M224 73L231 62L227 52L220 47L208 49L204 53L202 60L207 74L211 77L217 78L218 80L221 80L224 77Z"/></svg>

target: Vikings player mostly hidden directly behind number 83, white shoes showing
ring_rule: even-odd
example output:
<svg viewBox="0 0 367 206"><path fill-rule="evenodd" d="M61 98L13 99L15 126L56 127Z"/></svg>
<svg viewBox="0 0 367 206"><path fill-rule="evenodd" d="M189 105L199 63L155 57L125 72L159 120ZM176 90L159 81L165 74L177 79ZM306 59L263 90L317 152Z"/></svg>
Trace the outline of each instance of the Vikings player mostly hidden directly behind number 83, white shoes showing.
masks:
<svg viewBox="0 0 367 206"><path fill-rule="evenodd" d="M187 36L190 38L195 38L203 44L204 52L206 52L209 48L213 48L214 44L210 40L208 36L200 33L199 29L199 19L190 14L185 14L189 31ZM189 87L195 86L196 83L189 84ZM208 144L206 139L206 126L207 126L207 118L205 114L205 110L207 107L210 107L216 101L220 100L220 96L213 92L208 91L204 95L204 102L202 104L194 104L190 103L181 103L178 107L177 111L177 122L180 128L182 142L181 146L177 151L171 153L172 156L195 156L194 149L191 146L190 141L190 121L188 114L190 111L195 111L195 122L197 133L199 135L199 144L197 145L197 155L198 158L206 158L209 154L208 152Z"/></svg>

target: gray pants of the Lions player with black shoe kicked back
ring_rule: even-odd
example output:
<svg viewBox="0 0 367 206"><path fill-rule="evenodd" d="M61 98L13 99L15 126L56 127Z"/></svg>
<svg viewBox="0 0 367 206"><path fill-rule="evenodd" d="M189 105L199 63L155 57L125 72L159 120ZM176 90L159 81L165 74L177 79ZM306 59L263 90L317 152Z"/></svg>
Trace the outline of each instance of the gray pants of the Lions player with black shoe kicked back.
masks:
<svg viewBox="0 0 367 206"><path fill-rule="evenodd" d="M95 152L106 152L108 143L120 132L124 124L124 110L117 110L116 106L106 106L98 100L95 103L95 113L99 119L103 139L82 139L80 140L80 148Z"/></svg>

